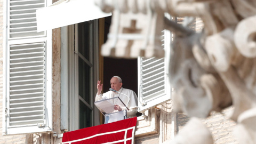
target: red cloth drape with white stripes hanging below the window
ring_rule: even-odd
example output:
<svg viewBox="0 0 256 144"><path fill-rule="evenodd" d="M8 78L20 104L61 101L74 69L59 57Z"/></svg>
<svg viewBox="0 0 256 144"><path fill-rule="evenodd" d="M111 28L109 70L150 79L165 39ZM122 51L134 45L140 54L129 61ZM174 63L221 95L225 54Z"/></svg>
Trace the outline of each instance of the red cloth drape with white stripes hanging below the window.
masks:
<svg viewBox="0 0 256 144"><path fill-rule="evenodd" d="M124 119L109 124L102 124L84 129L63 133L62 143L71 142L78 143L106 143L125 139L125 129L127 130L126 139L132 138L134 128L137 123L137 117ZM103 134L103 135L101 135ZM91 138L89 138L91 137ZM133 138L132 138L133 139ZM77 142L72 142L79 140ZM124 143L124 142L115 142ZM126 143L132 143L132 140L127 140Z"/></svg>

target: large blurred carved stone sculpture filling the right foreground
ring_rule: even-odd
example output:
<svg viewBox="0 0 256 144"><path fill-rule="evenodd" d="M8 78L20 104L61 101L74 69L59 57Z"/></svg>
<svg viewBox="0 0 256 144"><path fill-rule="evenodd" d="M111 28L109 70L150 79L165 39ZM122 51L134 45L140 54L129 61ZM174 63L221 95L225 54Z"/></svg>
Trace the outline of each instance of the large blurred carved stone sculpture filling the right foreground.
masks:
<svg viewBox="0 0 256 144"><path fill-rule="evenodd" d="M173 31L169 71L175 89L175 109L205 118L213 110L233 105L230 118L238 123L235 129L238 141L256 143L256 0L95 0L95 3L103 11L113 11L103 55L112 56L114 47L122 47L129 54L116 50L117 57L163 57L159 46L161 31L163 28ZM164 13L172 17L199 17L204 29L196 33L164 18ZM132 27L130 38L125 40L124 27Z"/></svg>

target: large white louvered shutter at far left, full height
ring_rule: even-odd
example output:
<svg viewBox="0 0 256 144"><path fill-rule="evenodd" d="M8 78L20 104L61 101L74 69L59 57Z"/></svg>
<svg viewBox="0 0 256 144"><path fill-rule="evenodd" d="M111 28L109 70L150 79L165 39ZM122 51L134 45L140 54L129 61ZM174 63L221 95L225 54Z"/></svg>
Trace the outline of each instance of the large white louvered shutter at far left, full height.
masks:
<svg viewBox="0 0 256 144"><path fill-rule="evenodd" d="M52 131L51 31L36 28L36 10L45 6L46 0L5 3L3 134Z"/></svg>

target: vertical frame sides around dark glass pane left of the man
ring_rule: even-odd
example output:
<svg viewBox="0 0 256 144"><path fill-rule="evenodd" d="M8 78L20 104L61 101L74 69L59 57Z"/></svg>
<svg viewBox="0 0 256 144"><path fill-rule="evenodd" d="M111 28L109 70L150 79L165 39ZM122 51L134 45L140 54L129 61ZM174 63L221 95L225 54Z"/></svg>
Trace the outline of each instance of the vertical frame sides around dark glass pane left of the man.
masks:
<svg viewBox="0 0 256 144"><path fill-rule="evenodd" d="M92 64L91 67L91 77L90 80L90 93L91 93L91 101L88 103L92 107L92 126L99 124L99 112L94 107L94 98L97 93L97 89L95 90L95 84L97 84L99 78L99 44L98 44L98 19L92 20L92 27L90 29L90 57L89 61ZM69 85L67 87L68 90L68 115L61 116L61 119L68 119L68 124L65 129L68 131L74 131L79 129L79 91L78 91L78 24L68 26L68 82ZM64 66L64 67L65 67ZM65 89L65 88L61 88ZM64 106L65 107L65 106ZM61 108L63 109L63 108Z"/></svg>

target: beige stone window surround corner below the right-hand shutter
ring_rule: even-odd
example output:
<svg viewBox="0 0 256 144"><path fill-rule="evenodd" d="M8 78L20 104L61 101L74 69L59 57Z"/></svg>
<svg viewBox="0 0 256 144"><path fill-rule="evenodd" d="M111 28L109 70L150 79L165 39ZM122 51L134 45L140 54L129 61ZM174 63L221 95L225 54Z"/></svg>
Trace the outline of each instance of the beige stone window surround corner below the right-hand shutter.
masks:
<svg viewBox="0 0 256 144"><path fill-rule="evenodd" d="M140 134L138 137L137 131L135 131L135 143L148 144L148 143L170 143L177 133L176 129L176 117L173 112L172 101L158 105L155 108L149 110L147 122L140 123L136 130L144 129L144 134ZM139 119L139 118L138 118ZM150 126L145 125L150 124ZM139 123L137 122L137 125ZM154 128L154 133L152 128ZM141 131L141 130L140 130Z"/></svg>

